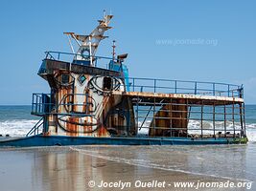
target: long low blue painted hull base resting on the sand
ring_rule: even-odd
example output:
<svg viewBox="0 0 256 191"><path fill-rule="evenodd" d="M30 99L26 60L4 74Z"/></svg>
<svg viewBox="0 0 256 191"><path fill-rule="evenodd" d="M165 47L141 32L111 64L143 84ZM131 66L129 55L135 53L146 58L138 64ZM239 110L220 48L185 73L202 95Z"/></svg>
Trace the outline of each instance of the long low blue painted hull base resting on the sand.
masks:
<svg viewBox="0 0 256 191"><path fill-rule="evenodd" d="M238 138L95 138L36 135L1 138L0 146L30 147L53 145L205 145L241 143Z"/></svg>

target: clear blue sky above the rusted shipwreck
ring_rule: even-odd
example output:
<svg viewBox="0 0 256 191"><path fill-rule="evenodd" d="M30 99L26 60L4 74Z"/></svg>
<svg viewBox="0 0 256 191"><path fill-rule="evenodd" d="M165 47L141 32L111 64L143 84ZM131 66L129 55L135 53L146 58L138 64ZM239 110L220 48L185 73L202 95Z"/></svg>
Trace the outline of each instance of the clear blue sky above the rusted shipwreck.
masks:
<svg viewBox="0 0 256 191"><path fill-rule="evenodd" d="M98 55L128 53L129 75L244 84L256 104L256 1L1 0L0 105L49 93L37 75L45 51L70 52L63 32L88 34L114 15Z"/></svg>

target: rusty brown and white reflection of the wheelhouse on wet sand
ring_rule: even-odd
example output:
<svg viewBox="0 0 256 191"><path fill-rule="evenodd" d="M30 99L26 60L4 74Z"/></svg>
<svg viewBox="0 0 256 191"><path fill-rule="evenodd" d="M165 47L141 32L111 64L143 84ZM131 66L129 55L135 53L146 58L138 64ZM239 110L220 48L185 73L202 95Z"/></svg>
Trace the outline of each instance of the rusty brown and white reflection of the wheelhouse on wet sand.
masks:
<svg viewBox="0 0 256 191"><path fill-rule="evenodd" d="M76 152L35 153L33 178L41 180L43 190L84 190L84 178L92 174L89 163Z"/></svg>

